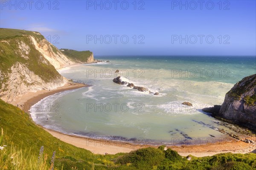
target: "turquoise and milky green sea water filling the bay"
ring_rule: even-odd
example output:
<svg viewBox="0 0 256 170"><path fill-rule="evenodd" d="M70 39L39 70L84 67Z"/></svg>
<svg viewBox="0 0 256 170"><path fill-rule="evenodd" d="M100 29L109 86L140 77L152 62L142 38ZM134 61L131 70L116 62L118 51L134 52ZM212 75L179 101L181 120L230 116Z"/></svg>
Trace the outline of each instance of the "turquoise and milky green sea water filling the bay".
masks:
<svg viewBox="0 0 256 170"><path fill-rule="evenodd" d="M222 104L236 82L256 73L254 57L96 58L110 62L60 71L66 78L92 86L44 98L38 103L41 109L32 107L36 123L63 133L122 141L218 141L223 134L216 129L228 129L201 109ZM117 69L119 73L115 73ZM113 78L119 75L123 81L159 95L114 84ZM193 106L182 105L184 101Z"/></svg>

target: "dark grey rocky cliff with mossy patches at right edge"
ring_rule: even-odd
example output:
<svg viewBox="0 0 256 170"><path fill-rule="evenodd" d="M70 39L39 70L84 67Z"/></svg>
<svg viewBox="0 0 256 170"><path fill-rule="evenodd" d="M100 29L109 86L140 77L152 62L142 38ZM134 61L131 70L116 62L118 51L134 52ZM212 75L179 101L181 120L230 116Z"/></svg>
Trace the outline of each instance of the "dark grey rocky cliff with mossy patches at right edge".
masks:
<svg viewBox="0 0 256 170"><path fill-rule="evenodd" d="M256 74L243 78L227 92L217 115L256 128Z"/></svg>

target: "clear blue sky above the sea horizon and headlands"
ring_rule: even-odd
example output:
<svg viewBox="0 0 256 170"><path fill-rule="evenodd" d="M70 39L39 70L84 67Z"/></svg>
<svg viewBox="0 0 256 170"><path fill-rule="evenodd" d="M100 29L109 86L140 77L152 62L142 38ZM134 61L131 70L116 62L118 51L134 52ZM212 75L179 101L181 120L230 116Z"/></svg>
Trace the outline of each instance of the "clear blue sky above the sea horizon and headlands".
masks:
<svg viewBox="0 0 256 170"><path fill-rule="evenodd" d="M255 0L0 0L0 27L94 55L256 56Z"/></svg>

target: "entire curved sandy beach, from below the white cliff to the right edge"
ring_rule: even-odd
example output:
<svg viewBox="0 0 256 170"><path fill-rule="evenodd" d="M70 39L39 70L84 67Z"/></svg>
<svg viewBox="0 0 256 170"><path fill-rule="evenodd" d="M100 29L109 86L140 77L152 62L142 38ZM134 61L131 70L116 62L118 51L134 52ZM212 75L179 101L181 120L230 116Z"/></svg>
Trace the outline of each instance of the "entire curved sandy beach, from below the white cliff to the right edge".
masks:
<svg viewBox="0 0 256 170"><path fill-rule="evenodd" d="M29 108L36 104L41 99L53 95L58 92L63 92L70 89L77 89L81 87L85 87L87 85L77 84L68 82L64 86L59 87L55 90L40 90L38 92L28 92L27 94L15 98L15 100L11 103L15 106L19 104L20 109L29 113ZM23 105L21 107L21 104ZM43 128L43 127L42 127ZM76 147L84 148L86 150L90 150L95 154L116 154L116 153L129 153L133 150L137 150L143 147L158 147L151 146L147 144L133 144L121 141L109 141L109 140L99 140L92 138L85 138L75 135L66 135L54 130L45 129L48 133L53 135L54 137L60 139L61 141L72 144ZM254 139L255 141L255 139ZM234 138L229 138L224 142L218 142L214 144L201 144L201 145L182 145L182 146L168 146L173 150L176 150L181 156L212 156L218 153L250 153L256 149L255 144L247 144L243 141L236 140Z"/></svg>

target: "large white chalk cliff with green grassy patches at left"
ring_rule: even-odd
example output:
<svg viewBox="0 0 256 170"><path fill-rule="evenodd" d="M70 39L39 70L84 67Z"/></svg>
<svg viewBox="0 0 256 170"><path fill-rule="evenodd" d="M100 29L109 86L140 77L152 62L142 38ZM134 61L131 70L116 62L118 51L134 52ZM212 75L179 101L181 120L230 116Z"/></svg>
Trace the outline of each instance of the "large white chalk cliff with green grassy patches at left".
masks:
<svg viewBox="0 0 256 170"><path fill-rule="evenodd" d="M0 30L0 98L41 89L55 89L67 81L56 69L72 63L38 32Z"/></svg>

